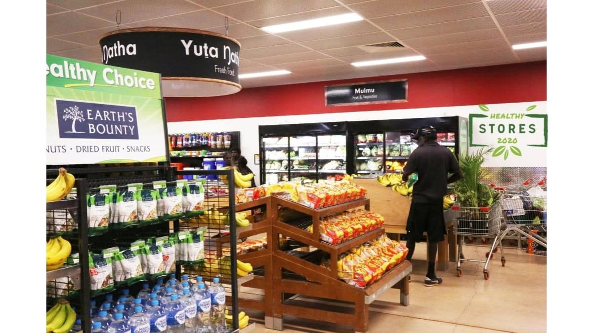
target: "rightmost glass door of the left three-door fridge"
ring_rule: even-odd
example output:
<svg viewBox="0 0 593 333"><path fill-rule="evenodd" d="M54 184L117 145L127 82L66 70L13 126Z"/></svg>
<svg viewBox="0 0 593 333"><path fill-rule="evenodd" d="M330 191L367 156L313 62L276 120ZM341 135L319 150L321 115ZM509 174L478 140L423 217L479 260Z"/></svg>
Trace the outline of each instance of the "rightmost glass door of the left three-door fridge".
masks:
<svg viewBox="0 0 593 333"><path fill-rule="evenodd" d="M346 136L317 136L320 180L342 180L346 174Z"/></svg>

